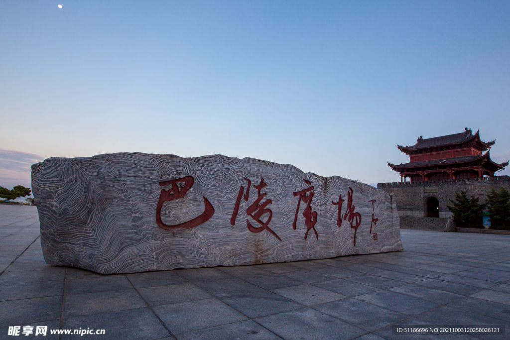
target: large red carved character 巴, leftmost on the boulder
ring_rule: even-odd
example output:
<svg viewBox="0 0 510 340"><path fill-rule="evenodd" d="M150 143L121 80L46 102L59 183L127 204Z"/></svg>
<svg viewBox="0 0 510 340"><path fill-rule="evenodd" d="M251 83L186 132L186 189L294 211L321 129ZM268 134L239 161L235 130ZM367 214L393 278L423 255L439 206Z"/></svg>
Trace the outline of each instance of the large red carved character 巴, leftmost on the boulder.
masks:
<svg viewBox="0 0 510 340"><path fill-rule="evenodd" d="M189 220L188 222L183 222L176 225L166 225L163 223L163 221L161 221L161 207L163 206L163 203L184 197L188 190L190 190L191 187L193 187L194 182L195 180L191 176L159 182L159 185L162 187L170 185L172 186L168 190L161 189L158 207L156 208L156 223L158 223L158 226L160 228L169 231L185 230L196 227L197 225L206 222L214 215L213 205L211 204L211 202L209 202L207 198L203 197L203 204L205 207L203 213L200 214L200 216L197 216L194 219ZM184 183L184 185L180 186L179 185L180 183Z"/></svg>

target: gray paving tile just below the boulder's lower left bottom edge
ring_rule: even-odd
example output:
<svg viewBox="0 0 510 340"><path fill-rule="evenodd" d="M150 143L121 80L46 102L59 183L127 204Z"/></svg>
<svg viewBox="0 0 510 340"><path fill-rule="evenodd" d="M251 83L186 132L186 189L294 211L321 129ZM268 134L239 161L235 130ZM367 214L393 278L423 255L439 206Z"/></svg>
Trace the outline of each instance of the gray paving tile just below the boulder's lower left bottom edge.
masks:
<svg viewBox="0 0 510 340"><path fill-rule="evenodd" d="M65 294L85 294L94 292L119 291L133 289L124 275L109 275L86 279L66 280Z"/></svg>

